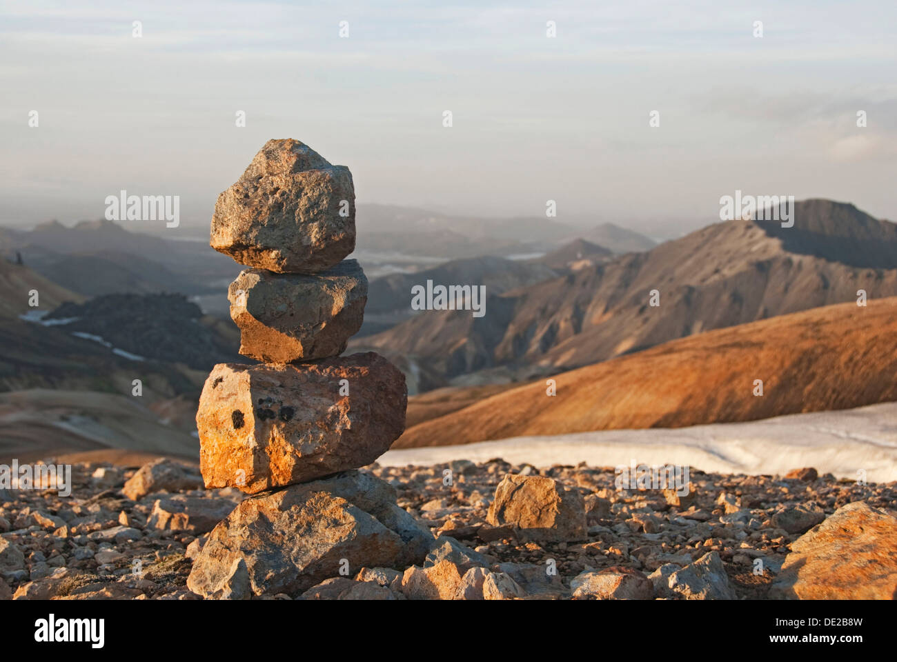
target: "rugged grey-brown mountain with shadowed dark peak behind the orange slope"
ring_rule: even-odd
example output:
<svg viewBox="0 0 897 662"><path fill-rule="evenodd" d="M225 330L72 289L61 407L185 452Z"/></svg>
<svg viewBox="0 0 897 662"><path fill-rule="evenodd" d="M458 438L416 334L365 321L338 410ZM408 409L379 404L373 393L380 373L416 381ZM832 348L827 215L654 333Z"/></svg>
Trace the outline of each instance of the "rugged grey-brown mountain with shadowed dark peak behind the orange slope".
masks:
<svg viewBox="0 0 897 662"><path fill-rule="evenodd" d="M795 219L789 229L715 223L647 253L489 296L483 318L429 310L350 347L405 357L415 374L434 376L419 380L424 390L495 366L570 370L711 329L855 301L859 289L897 296L897 225L829 200L797 203Z"/></svg>

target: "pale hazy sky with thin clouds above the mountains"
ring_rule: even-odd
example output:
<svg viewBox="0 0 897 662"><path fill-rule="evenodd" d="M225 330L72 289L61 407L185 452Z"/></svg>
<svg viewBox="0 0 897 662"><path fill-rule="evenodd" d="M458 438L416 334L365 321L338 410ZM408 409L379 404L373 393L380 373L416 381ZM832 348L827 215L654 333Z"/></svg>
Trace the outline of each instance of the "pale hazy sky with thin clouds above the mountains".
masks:
<svg viewBox="0 0 897 662"><path fill-rule="evenodd" d="M740 189L897 221L893 0L83 5L0 3L0 223L100 218L125 189L206 226L287 137L348 166L359 203L554 200L668 238Z"/></svg>

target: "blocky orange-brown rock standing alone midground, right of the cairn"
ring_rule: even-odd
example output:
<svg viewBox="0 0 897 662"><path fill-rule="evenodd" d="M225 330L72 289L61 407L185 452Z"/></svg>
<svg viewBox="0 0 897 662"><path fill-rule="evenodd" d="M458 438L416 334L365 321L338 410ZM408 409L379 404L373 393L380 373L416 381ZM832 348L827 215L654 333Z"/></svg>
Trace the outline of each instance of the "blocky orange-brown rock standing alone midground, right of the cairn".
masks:
<svg viewBox="0 0 897 662"><path fill-rule="evenodd" d="M582 495L552 478L506 475L495 490L486 520L510 524L528 540L584 540L586 507Z"/></svg>

